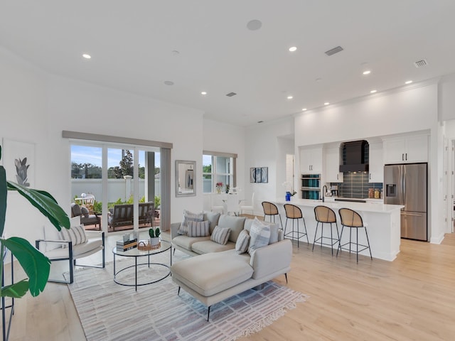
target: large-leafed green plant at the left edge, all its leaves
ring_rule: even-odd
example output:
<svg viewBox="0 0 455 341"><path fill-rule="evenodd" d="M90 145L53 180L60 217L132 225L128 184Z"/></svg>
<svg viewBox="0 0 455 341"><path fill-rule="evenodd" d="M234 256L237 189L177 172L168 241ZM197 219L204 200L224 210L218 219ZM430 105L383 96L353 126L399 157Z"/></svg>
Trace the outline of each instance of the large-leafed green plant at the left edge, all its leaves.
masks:
<svg viewBox="0 0 455 341"><path fill-rule="evenodd" d="M1 159L1 146L0 146ZM28 278L11 284L0 286L0 296L20 298L30 291L32 296L38 296L49 278L50 260L33 247L28 240L20 237L4 239L4 227L6 217L6 199L8 191L14 190L28 202L36 207L48 220L60 231L61 227L70 228L70 219L60 207L52 195L43 190L33 190L24 185L6 180L6 171L0 166L0 281L3 283L3 264L5 249L9 249L21 264ZM13 264L11 264L12 266Z"/></svg>

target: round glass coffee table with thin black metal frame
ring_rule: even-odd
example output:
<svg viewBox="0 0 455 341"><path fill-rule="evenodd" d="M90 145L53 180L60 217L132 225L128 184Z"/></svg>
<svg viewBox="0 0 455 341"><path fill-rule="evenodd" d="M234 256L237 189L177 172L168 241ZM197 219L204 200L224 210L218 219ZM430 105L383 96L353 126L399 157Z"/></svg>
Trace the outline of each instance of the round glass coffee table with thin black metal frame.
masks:
<svg viewBox="0 0 455 341"><path fill-rule="evenodd" d="M164 263L156 263L156 262L150 261L151 256L156 256L157 254L161 254L168 250L169 250L169 265L164 264ZM112 254L114 254L114 282L117 284L120 284L121 286L134 286L134 288L137 291L138 286L146 286L146 285L149 285L152 283L156 283L156 282L164 280L164 278L171 275L171 269L170 269L171 265L172 265L171 243L166 242L164 240L161 240L161 247L159 247L158 249L141 251L137 248L134 248L134 249L127 250L127 251L118 251L117 247L114 247L112 249ZM119 269L117 271L116 256L133 257L134 264L129 265L129 266L124 266L124 267L122 267L122 269ZM147 257L146 263L138 263L138 259L140 257L145 257L145 256ZM143 281L140 281L140 283L138 283L137 282L137 267L138 266L148 266L149 268L151 268L151 267L155 268L156 273L158 273L158 277L154 277L153 279L148 278L148 279L145 279ZM131 278L132 276L130 276L128 278L128 274L125 274L123 272L123 271L129 272L129 269L133 269L133 268L134 268L134 283L132 283L132 281L127 281L127 279ZM124 275L124 277L119 279L119 274Z"/></svg>

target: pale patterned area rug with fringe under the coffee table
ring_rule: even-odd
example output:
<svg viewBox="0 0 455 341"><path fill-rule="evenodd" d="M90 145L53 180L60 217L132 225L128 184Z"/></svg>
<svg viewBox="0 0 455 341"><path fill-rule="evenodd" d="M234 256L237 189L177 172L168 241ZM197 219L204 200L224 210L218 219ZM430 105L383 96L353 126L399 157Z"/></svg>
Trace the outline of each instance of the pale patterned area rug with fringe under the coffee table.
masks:
<svg viewBox="0 0 455 341"><path fill-rule="evenodd" d="M168 256L154 257L156 263L168 261ZM116 270L133 262L117 260ZM144 276L149 281L151 272L162 276L166 271L163 266L139 266L138 282L144 281ZM120 275L123 277L117 276L117 281L134 283L134 267ZM248 290L213 305L207 322L207 307L183 290L177 296L178 286L171 277L135 291L114 283L110 262L105 269L77 270L74 278L68 287L89 341L236 340L272 324L307 297L269 281L262 290Z"/></svg>

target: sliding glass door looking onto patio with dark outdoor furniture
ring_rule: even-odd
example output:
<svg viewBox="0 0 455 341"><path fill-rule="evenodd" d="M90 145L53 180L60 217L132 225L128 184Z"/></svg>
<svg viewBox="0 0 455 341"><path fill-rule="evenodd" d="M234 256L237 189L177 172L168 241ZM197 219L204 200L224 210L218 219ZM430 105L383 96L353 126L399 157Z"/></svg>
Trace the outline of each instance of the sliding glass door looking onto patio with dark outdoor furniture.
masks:
<svg viewBox="0 0 455 341"><path fill-rule="evenodd" d="M74 203L95 197L90 214L100 216L105 232L159 226L161 167L158 147L71 144ZM78 200L78 201L77 201ZM85 209L82 209L85 210ZM99 225L85 225L99 229Z"/></svg>

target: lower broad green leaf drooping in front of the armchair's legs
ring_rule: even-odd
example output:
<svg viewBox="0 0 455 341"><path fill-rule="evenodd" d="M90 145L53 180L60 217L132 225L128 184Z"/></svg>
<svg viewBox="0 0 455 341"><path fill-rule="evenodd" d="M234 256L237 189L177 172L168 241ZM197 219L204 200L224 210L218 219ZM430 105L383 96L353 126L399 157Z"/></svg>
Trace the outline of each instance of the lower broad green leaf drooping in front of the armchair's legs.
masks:
<svg viewBox="0 0 455 341"><path fill-rule="evenodd" d="M26 239L11 237L0 239L11 251L28 276L28 285L32 296L38 296L44 290L49 278L50 260L35 249Z"/></svg>

